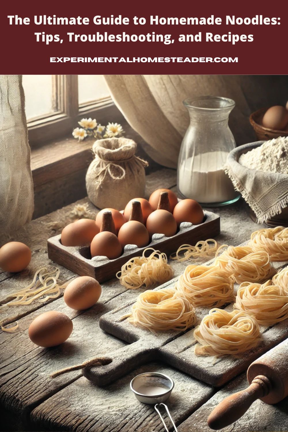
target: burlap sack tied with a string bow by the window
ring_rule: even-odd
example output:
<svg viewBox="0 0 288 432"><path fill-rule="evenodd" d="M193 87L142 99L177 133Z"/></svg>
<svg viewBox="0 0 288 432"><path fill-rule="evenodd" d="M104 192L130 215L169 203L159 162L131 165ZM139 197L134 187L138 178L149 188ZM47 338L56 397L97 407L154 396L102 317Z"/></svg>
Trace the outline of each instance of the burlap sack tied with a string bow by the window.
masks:
<svg viewBox="0 0 288 432"><path fill-rule="evenodd" d="M95 141L95 159L86 174L86 189L96 207L123 210L128 201L144 197L144 167L148 162L135 156L136 147L127 138Z"/></svg>

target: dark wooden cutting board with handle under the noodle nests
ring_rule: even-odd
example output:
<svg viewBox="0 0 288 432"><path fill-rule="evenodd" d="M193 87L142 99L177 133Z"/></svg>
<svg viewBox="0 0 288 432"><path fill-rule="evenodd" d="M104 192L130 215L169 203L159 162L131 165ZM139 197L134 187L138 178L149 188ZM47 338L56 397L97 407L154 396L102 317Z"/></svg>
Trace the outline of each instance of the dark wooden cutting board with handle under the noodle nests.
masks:
<svg viewBox="0 0 288 432"><path fill-rule="evenodd" d="M211 264L211 261L207 264ZM275 270L279 270L288 263L272 264ZM177 278L156 289L174 288L176 280ZM237 290L237 287L235 284L234 289ZM136 297L137 293L135 292L135 299ZM121 295L118 300L120 303ZM260 345L237 358L223 356L215 359L215 357L209 356L196 356L194 353L196 344L196 340L193 338L194 329L186 332L161 332L154 335L149 330L130 324L125 316L130 313L134 301L130 301L100 318L99 325L102 330L126 341L129 345L116 350L114 353L109 353L112 361L108 365L84 369L83 373L86 378L98 385L109 384L136 366L159 359L200 381L215 387L222 386L243 372L260 355L288 337L288 320L285 320L271 327L261 326L262 342ZM231 311L232 306L232 304L226 306L225 310ZM197 307L197 318L201 320L209 312L209 309L211 308ZM95 355L97 355L97 351Z"/></svg>

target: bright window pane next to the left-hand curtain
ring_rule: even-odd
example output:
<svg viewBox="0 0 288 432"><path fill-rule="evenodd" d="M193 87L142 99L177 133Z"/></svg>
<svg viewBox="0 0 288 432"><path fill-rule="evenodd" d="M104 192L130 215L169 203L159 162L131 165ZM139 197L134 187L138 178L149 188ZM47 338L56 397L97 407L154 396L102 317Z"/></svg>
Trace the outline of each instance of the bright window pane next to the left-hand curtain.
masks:
<svg viewBox="0 0 288 432"><path fill-rule="evenodd" d="M54 111L52 75L23 75L22 83L27 121Z"/></svg>

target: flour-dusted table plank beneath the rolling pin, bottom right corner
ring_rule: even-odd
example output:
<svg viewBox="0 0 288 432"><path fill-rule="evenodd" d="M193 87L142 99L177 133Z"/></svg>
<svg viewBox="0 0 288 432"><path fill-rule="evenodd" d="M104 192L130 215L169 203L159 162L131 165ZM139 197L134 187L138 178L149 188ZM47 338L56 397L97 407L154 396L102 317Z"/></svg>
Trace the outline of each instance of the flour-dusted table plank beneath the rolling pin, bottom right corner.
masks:
<svg viewBox="0 0 288 432"><path fill-rule="evenodd" d="M179 427L178 432L197 431L197 432L211 432L207 425L207 419L211 411L221 402L225 397L236 393L237 391L247 388L246 374L242 374L222 390L218 391L211 399L208 400L202 407L193 413L186 421ZM277 431L285 432L288 430L288 397L282 402L275 405L268 405L262 400L256 400L247 413L241 419L221 429L221 432L247 432L247 431Z"/></svg>

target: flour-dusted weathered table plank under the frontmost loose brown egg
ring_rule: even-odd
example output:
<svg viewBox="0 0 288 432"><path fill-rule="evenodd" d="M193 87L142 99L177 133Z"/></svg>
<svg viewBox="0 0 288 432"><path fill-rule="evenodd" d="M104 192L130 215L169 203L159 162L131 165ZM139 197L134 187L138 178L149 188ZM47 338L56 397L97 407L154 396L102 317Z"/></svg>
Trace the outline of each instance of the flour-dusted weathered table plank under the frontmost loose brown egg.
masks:
<svg viewBox="0 0 288 432"><path fill-rule="evenodd" d="M118 283L110 283L110 289L103 290L101 301L84 313L68 308L63 299L45 305L40 311L19 320L17 334L0 334L0 404L5 410L17 414L20 425L25 424L27 413L42 400L81 376L81 371L50 378L50 374L63 367L82 363L85 359L109 353L124 343L109 335L103 335L98 326L101 314L116 307ZM35 346L28 338L28 326L44 311L58 310L73 320L73 333L69 340L58 347L46 349ZM22 426L23 427L23 423Z"/></svg>

